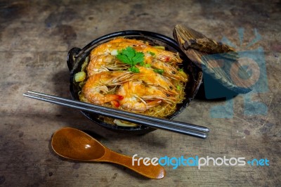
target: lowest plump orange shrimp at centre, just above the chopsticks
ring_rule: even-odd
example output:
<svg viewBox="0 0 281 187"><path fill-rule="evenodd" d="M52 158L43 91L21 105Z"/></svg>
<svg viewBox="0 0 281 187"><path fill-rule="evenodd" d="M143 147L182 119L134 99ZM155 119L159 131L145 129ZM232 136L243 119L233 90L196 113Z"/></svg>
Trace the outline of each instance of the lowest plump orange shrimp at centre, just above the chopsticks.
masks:
<svg viewBox="0 0 281 187"><path fill-rule="evenodd" d="M119 87L117 94L123 96L122 101L119 101L122 108L144 112L152 108L162 101L171 101L174 98L169 98L169 94L161 91L157 86L145 85L141 81L126 82Z"/></svg>

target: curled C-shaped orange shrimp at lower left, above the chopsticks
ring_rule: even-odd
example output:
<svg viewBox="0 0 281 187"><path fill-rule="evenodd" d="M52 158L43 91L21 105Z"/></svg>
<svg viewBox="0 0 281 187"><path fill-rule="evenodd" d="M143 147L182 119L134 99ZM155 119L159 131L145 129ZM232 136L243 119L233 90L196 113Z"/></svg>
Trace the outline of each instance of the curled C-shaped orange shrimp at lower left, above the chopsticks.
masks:
<svg viewBox="0 0 281 187"><path fill-rule="evenodd" d="M111 103L115 107L119 107L118 101L123 99L123 96L118 94L108 94L107 86L121 85L126 82L131 76L130 72L114 71L114 72L99 72L96 75L89 77L86 84L83 86L82 93L90 103L103 105Z"/></svg>

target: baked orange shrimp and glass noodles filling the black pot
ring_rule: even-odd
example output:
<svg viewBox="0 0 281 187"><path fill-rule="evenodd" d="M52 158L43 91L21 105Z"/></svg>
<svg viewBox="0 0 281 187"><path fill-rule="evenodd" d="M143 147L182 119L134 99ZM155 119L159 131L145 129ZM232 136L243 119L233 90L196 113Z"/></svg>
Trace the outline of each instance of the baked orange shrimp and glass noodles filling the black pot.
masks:
<svg viewBox="0 0 281 187"><path fill-rule="evenodd" d="M178 53L137 39L117 38L91 51L74 78L80 101L155 117L169 117L185 98L188 75ZM84 65L85 66L85 65ZM136 124L103 117L112 125Z"/></svg>

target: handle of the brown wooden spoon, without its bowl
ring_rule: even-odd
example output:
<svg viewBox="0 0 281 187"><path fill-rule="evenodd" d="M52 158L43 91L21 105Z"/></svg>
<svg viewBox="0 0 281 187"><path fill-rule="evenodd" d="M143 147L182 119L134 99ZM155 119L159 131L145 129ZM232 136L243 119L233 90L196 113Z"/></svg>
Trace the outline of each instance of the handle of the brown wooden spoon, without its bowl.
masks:
<svg viewBox="0 0 281 187"><path fill-rule="evenodd" d="M166 174L164 167L160 166L159 164L152 165L152 162L150 160L148 161L141 159L138 161L138 157L134 157L133 161L132 157L121 155L108 148L106 148L105 151L105 155L98 159L98 161L112 162L118 165L122 165L150 179L162 179ZM145 162L144 164L143 161L148 162Z"/></svg>

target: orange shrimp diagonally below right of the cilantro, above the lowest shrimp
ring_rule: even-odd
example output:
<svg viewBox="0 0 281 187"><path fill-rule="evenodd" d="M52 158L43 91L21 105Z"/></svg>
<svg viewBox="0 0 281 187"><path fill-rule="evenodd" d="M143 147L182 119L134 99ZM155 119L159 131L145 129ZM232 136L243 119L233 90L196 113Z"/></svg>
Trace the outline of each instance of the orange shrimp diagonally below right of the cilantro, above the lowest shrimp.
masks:
<svg viewBox="0 0 281 187"><path fill-rule="evenodd" d="M145 84L159 86L168 94L178 94L176 87L169 79L155 72L150 67L138 67L140 73L132 76L134 80L142 80Z"/></svg>

